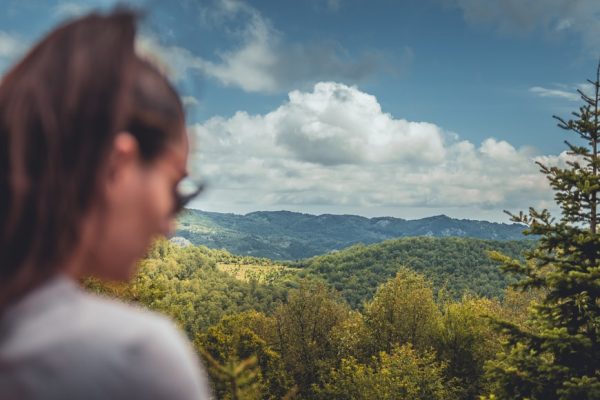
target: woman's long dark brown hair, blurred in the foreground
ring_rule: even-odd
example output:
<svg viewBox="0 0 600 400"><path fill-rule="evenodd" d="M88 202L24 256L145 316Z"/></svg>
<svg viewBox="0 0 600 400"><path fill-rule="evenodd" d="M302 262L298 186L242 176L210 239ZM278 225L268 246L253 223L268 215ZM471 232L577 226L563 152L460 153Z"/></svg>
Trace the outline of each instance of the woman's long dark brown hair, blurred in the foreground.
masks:
<svg viewBox="0 0 600 400"><path fill-rule="evenodd" d="M181 132L179 96L135 53L136 19L117 10L62 25L0 83L0 309L79 244L118 132L146 161Z"/></svg>

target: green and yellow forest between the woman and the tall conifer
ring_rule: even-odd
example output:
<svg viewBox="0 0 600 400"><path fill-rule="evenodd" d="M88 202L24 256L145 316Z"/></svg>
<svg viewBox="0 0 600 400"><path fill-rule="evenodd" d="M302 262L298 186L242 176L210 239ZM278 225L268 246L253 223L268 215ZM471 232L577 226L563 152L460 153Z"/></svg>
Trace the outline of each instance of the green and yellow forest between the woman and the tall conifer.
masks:
<svg viewBox="0 0 600 400"><path fill-rule="evenodd" d="M471 399L501 346L490 317L524 325L539 296L496 279L488 298L467 282L497 275L485 251L523 243L406 238L281 265L159 240L129 285L86 285L174 318L217 398Z"/></svg>

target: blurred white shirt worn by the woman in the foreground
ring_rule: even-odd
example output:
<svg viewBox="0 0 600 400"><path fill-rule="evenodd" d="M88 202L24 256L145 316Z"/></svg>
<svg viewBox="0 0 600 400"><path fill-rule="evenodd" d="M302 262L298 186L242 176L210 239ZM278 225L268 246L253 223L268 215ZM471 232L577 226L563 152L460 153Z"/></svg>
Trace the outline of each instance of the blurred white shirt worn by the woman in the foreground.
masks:
<svg viewBox="0 0 600 400"><path fill-rule="evenodd" d="M0 399L210 399L167 318L51 279L0 316Z"/></svg>

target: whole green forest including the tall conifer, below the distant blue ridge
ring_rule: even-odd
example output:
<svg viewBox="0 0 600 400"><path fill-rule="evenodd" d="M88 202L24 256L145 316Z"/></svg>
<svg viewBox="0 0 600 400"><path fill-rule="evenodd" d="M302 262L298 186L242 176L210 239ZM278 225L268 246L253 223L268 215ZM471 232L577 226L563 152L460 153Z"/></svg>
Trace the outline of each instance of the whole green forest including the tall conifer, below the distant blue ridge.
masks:
<svg viewBox="0 0 600 400"><path fill-rule="evenodd" d="M97 293L171 316L219 399L600 399L600 65L535 241L400 238L278 263L159 240Z"/></svg>

